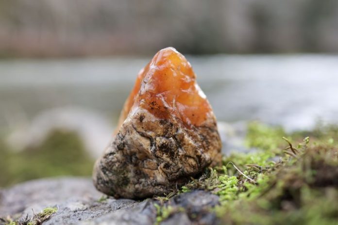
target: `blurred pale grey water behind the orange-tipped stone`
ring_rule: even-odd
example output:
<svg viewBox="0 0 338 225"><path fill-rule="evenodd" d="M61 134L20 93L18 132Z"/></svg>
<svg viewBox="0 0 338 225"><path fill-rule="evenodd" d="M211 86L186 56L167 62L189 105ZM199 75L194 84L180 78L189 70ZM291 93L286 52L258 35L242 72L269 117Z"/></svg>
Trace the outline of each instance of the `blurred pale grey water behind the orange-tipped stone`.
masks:
<svg viewBox="0 0 338 225"><path fill-rule="evenodd" d="M259 119L287 129L338 122L338 56L187 57L219 120ZM0 62L0 126L77 106L116 122L136 74L149 58Z"/></svg>

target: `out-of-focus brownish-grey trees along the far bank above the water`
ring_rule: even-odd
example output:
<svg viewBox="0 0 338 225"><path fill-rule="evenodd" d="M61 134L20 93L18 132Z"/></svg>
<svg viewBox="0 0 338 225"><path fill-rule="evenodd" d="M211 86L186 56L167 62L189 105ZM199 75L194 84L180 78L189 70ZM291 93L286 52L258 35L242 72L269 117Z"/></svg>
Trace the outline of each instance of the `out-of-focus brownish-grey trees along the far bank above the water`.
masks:
<svg viewBox="0 0 338 225"><path fill-rule="evenodd" d="M0 55L337 52L337 0L0 0Z"/></svg>

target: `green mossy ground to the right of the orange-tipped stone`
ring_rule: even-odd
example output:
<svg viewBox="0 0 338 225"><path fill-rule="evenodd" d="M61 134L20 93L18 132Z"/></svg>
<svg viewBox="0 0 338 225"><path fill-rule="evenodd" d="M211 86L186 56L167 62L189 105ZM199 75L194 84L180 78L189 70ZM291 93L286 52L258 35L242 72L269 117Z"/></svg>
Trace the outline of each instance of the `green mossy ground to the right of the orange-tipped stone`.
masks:
<svg viewBox="0 0 338 225"><path fill-rule="evenodd" d="M219 195L220 206L210 211L220 224L336 225L337 138L336 126L287 134L280 127L250 123L246 145L256 151L225 157L221 167L207 169L177 193L204 189ZM172 195L158 199L162 204ZM157 209L157 221L175 213L167 209L165 204Z"/></svg>

